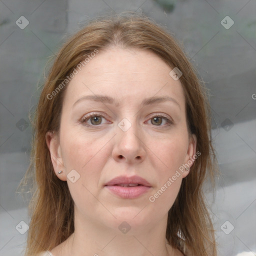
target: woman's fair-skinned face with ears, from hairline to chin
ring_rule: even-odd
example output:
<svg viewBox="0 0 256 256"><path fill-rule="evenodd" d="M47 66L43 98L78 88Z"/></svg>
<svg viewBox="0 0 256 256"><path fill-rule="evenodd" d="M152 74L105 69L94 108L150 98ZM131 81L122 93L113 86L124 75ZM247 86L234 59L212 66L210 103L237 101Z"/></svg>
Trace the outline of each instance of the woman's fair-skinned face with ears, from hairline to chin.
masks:
<svg viewBox="0 0 256 256"><path fill-rule="evenodd" d="M133 230L166 220L189 172L179 167L195 153L183 89L171 69L150 51L111 47L67 85L59 136L47 133L46 140L80 217L111 228L126 221ZM134 175L147 186L106 185Z"/></svg>

